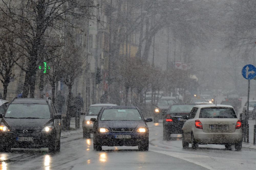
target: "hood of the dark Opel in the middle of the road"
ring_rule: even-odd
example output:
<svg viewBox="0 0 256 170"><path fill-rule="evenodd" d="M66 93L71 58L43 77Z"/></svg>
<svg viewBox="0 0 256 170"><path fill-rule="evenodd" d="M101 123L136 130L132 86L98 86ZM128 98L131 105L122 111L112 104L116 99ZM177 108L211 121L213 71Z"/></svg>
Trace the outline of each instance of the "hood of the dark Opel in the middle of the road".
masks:
<svg viewBox="0 0 256 170"><path fill-rule="evenodd" d="M144 121L137 120L121 120L121 121L112 121L112 120L104 120L99 122L99 127L104 128L139 128L139 127L147 127Z"/></svg>

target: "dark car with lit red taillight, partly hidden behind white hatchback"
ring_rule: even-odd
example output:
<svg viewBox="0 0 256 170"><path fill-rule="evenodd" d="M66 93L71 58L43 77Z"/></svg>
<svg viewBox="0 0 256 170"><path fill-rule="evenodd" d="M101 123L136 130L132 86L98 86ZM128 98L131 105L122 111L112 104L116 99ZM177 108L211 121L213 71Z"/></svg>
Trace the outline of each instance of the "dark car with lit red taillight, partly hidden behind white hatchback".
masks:
<svg viewBox="0 0 256 170"><path fill-rule="evenodd" d="M194 103L176 103L163 113L163 140L170 140L171 134L182 133L182 127L186 122L184 116L188 116L194 106Z"/></svg>

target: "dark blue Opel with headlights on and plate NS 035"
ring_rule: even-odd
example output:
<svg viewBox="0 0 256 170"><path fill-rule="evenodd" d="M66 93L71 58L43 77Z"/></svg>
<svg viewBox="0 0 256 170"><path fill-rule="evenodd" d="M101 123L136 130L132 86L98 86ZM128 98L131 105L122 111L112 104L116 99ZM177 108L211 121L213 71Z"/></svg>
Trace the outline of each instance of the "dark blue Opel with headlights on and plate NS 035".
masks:
<svg viewBox="0 0 256 170"><path fill-rule="evenodd" d="M101 151L102 146L138 146L148 150L148 126L151 118L144 119L135 106L105 106L93 124L93 149Z"/></svg>

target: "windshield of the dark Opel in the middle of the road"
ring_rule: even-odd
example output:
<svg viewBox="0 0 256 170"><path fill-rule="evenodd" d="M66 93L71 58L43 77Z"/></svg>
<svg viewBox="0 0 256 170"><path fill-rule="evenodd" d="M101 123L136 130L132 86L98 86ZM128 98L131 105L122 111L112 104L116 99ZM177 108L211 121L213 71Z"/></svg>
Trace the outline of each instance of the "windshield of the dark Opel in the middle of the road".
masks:
<svg viewBox="0 0 256 170"><path fill-rule="evenodd" d="M142 120L137 109L105 109L101 120Z"/></svg>

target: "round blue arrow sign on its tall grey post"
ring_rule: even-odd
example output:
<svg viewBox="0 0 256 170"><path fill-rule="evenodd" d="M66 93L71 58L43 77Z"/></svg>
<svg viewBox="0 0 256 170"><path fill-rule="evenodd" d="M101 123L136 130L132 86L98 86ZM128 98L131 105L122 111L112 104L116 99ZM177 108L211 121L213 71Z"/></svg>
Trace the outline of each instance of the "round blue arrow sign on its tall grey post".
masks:
<svg viewBox="0 0 256 170"><path fill-rule="evenodd" d="M256 76L256 67L254 65L248 64L245 65L242 69L242 76L248 80L248 94L247 94L247 111L246 111L246 142L249 143L249 99L250 99L250 80ZM255 139L254 139L255 140Z"/></svg>

